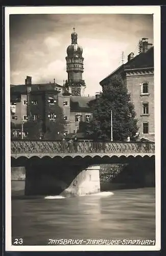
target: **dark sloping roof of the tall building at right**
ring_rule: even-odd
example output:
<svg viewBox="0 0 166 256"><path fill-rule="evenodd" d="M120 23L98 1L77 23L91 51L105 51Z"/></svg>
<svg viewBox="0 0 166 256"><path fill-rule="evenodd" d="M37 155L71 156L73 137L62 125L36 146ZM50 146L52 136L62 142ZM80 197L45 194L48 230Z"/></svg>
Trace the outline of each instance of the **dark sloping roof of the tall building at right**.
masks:
<svg viewBox="0 0 166 256"><path fill-rule="evenodd" d="M154 67L154 47L151 47L147 52L136 55L130 61L118 67L108 76L106 76L102 81L100 81L100 84L103 85L103 83L105 82L105 80L107 80L107 78L121 71L131 70L131 69L153 68L153 67Z"/></svg>

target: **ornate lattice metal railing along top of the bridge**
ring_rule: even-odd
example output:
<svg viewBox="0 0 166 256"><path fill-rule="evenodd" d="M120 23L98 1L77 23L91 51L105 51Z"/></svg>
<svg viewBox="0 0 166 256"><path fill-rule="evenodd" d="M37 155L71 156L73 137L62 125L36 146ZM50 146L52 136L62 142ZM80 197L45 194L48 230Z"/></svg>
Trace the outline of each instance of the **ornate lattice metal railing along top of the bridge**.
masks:
<svg viewBox="0 0 166 256"><path fill-rule="evenodd" d="M11 153L155 153L155 143L12 140Z"/></svg>

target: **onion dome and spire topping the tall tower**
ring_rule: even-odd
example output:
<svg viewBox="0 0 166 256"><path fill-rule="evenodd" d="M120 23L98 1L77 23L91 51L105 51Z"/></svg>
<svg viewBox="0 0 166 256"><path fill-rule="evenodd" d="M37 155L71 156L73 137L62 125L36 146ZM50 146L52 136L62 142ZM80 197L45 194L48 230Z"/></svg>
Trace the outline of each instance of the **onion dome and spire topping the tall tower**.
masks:
<svg viewBox="0 0 166 256"><path fill-rule="evenodd" d="M74 32L71 34L72 44L67 47L68 57L82 57L82 47L77 44L77 36L74 28Z"/></svg>

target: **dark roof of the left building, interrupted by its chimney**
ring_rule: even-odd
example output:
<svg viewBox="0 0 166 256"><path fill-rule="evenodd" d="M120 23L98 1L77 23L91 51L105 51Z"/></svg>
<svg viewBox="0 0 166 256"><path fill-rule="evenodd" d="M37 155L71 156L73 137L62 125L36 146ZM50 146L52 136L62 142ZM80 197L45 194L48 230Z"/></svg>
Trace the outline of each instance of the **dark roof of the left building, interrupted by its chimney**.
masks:
<svg viewBox="0 0 166 256"><path fill-rule="evenodd" d="M32 91L46 91L46 90L55 90L55 88L60 87L62 88L62 86L60 86L60 84L58 83L35 83L32 84ZM18 85L13 85L11 84L10 86L11 92L12 93L20 93L20 94L26 94L27 93L27 85L26 84L18 84Z"/></svg>

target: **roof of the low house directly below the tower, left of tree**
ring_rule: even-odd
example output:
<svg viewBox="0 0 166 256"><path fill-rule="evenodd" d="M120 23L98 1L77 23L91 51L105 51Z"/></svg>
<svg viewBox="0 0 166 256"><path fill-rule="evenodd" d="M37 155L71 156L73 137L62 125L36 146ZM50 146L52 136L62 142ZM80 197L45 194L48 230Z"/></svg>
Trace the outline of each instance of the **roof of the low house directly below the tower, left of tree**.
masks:
<svg viewBox="0 0 166 256"><path fill-rule="evenodd" d="M85 96L70 96L70 110L71 111L79 111L83 109L89 109L91 107L91 101L94 100L95 97L85 97Z"/></svg>

